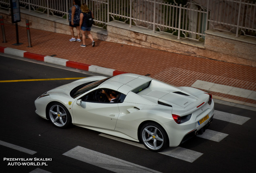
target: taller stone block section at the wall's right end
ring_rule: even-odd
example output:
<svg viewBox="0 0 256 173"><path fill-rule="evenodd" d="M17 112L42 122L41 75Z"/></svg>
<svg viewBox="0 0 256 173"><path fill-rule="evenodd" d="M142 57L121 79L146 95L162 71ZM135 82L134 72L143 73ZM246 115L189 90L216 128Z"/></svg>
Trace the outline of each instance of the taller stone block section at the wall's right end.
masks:
<svg viewBox="0 0 256 173"><path fill-rule="evenodd" d="M235 37L230 32L206 31L206 50L218 52L219 60L255 66L256 38Z"/></svg>

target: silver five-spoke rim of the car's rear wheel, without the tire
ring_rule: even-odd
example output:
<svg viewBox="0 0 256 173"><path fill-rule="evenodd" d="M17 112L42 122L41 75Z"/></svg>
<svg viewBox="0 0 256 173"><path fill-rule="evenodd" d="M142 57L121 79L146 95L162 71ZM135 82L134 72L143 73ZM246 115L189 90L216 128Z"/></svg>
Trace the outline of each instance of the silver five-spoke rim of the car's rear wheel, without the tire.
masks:
<svg viewBox="0 0 256 173"><path fill-rule="evenodd" d="M143 143L151 150L159 150L164 144L162 132L155 126L147 126L142 131Z"/></svg>

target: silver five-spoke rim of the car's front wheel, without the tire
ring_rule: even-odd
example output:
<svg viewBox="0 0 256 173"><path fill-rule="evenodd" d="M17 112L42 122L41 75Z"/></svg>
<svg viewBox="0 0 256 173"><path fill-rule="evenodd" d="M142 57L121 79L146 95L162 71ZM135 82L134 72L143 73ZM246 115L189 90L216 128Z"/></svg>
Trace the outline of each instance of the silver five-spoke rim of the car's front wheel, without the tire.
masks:
<svg viewBox="0 0 256 173"><path fill-rule="evenodd" d="M58 127L63 127L68 121L67 113L60 105L52 105L49 115L52 123Z"/></svg>

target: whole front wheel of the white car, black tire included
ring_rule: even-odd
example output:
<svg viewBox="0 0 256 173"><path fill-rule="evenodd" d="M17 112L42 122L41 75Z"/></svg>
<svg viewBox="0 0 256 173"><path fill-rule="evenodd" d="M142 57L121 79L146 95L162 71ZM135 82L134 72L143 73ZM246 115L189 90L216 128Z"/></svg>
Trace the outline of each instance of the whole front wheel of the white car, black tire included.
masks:
<svg viewBox="0 0 256 173"><path fill-rule="evenodd" d="M59 128L67 128L71 123L71 116L64 105L54 102L49 106L48 114L51 122Z"/></svg>

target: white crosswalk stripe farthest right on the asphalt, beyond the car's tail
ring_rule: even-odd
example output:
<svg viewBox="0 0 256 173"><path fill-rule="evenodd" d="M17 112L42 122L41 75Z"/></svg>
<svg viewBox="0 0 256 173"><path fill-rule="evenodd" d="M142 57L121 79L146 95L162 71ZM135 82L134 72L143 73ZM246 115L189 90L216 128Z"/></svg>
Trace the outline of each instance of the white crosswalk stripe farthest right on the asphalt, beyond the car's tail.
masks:
<svg viewBox="0 0 256 173"><path fill-rule="evenodd" d="M213 119L219 119L219 120L222 120L222 121L227 121L229 123L235 123L235 124L238 124L238 125L243 125L250 118L215 110Z"/></svg>

